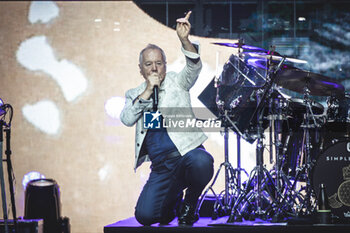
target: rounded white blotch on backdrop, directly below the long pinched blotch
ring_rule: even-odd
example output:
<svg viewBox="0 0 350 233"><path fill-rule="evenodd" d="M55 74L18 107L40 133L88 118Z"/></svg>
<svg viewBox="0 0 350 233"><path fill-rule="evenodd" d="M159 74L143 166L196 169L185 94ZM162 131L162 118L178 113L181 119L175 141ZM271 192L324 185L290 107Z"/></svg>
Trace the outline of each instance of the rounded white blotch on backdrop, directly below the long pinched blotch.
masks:
<svg viewBox="0 0 350 233"><path fill-rule="evenodd" d="M57 134L60 129L60 113L56 104L50 100L41 100L22 108L26 119L46 134Z"/></svg>

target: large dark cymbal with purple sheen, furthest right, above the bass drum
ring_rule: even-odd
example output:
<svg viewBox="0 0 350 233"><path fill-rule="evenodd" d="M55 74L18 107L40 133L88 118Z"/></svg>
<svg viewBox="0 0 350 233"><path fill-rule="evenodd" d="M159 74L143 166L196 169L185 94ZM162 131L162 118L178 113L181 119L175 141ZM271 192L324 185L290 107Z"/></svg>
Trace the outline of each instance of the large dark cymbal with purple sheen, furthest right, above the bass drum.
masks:
<svg viewBox="0 0 350 233"><path fill-rule="evenodd" d="M345 88L334 79L321 74L297 68L282 69L277 72L276 83L288 90L304 93L304 87L315 96L344 95Z"/></svg>

